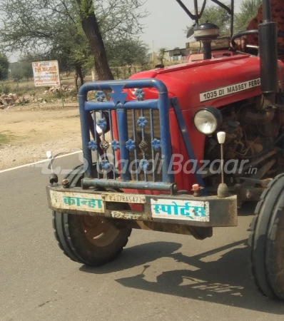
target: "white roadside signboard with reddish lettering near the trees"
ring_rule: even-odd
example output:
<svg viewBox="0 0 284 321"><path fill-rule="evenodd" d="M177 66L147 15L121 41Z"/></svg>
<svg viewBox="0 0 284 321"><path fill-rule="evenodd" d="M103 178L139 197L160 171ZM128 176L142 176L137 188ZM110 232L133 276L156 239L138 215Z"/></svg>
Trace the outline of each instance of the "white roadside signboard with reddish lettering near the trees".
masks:
<svg viewBox="0 0 284 321"><path fill-rule="evenodd" d="M33 62L34 86L60 86L58 61Z"/></svg>

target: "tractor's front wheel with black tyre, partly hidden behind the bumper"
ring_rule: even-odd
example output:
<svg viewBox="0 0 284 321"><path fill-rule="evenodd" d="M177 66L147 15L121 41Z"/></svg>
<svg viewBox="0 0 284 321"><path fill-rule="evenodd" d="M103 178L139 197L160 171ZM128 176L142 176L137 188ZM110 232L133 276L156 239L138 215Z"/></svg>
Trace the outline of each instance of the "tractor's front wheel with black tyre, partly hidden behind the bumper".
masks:
<svg viewBox="0 0 284 321"><path fill-rule="evenodd" d="M94 167L95 168L95 167ZM66 175L70 186L80 186L83 165ZM71 260L99 266L115 259L131 235L131 228L116 228L98 216L53 212L54 235L59 248Z"/></svg>

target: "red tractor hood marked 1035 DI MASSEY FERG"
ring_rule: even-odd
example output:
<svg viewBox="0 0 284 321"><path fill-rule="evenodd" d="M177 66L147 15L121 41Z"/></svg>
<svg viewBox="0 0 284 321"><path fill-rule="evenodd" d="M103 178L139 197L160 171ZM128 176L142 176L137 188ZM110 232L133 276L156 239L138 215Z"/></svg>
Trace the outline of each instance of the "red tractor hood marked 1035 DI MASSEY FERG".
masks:
<svg viewBox="0 0 284 321"><path fill-rule="evenodd" d="M283 63L279 63L282 73ZM131 76L131 79L138 78L163 81L169 98L176 96L182 109L218 107L260 95L260 60L256 56L242 54L157 68ZM155 89L145 90L146 99L157 96ZM135 98L133 91L129 92L129 98Z"/></svg>

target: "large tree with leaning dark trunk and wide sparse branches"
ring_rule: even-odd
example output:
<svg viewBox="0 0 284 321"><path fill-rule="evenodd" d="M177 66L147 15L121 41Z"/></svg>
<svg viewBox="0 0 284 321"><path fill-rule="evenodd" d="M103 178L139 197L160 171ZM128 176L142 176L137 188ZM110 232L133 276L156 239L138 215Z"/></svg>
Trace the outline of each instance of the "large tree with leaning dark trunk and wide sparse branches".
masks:
<svg viewBox="0 0 284 321"><path fill-rule="evenodd" d="M93 61L98 77L111 79L105 43L137 36L146 13L139 12L142 0L96 0L95 4L92 0L0 0L1 44L7 51L23 54L66 55L78 73L86 61Z"/></svg>

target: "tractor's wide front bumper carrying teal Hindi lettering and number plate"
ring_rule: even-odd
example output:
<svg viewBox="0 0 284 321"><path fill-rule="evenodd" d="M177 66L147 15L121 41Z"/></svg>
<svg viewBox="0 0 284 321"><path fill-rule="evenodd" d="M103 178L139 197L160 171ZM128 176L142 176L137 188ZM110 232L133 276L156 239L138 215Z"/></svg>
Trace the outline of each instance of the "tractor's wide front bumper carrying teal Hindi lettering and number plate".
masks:
<svg viewBox="0 0 284 321"><path fill-rule="evenodd" d="M59 213L97 215L122 220L172 223L213 228L237 225L237 197L193 195L128 195L81 188L47 186L49 208ZM141 210L121 210L121 204L139 204ZM118 205L120 204L120 205Z"/></svg>

